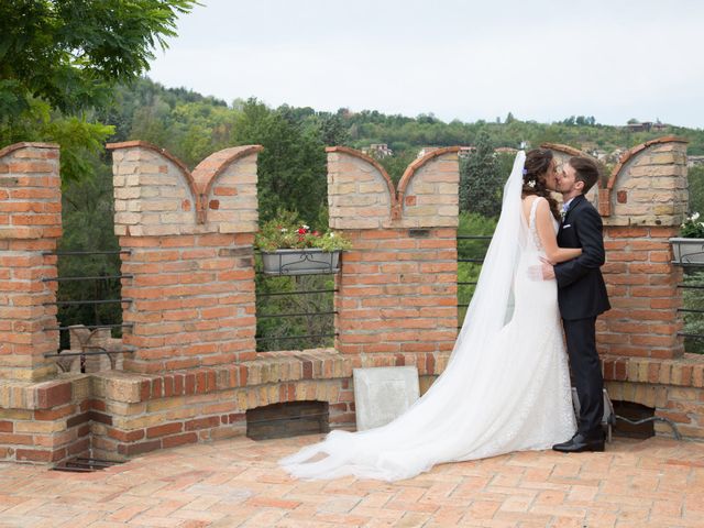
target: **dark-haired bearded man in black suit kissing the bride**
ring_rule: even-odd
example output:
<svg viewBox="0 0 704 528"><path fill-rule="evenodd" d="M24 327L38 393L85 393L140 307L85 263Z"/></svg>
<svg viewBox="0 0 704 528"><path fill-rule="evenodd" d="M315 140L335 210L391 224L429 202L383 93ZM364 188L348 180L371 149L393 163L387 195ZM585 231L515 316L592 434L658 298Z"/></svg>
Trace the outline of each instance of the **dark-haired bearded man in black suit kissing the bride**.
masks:
<svg viewBox="0 0 704 528"><path fill-rule="evenodd" d="M552 447L576 453L604 451L604 378L596 352L596 316L610 308L600 267L604 264L602 219L584 195L596 184L598 168L585 157L572 157L558 176L562 194L562 222L558 231L560 248L582 248L582 254L554 266L543 262L546 279L558 280L558 304L566 338L572 376L580 399L576 433Z"/></svg>

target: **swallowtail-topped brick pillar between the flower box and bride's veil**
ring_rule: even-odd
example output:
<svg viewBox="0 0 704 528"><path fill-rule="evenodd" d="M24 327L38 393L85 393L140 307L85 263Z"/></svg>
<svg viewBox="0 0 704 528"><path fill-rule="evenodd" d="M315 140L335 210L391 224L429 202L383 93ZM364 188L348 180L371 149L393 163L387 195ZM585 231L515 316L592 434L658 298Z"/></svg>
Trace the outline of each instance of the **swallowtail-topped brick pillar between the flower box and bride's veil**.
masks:
<svg viewBox="0 0 704 528"><path fill-rule="evenodd" d="M337 350L358 365L436 360L457 338L458 148L414 162L394 188L373 158L328 148L330 228L354 248L344 253L336 296ZM441 360L443 361L443 360Z"/></svg>

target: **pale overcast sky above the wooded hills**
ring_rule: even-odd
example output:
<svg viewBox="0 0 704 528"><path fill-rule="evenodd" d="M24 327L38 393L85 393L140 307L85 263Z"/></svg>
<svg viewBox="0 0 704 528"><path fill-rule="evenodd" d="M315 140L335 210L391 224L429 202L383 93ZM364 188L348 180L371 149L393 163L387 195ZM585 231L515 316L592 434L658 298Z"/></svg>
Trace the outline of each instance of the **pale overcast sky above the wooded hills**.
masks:
<svg viewBox="0 0 704 528"><path fill-rule="evenodd" d="M701 0L201 0L147 74L227 100L704 128Z"/></svg>

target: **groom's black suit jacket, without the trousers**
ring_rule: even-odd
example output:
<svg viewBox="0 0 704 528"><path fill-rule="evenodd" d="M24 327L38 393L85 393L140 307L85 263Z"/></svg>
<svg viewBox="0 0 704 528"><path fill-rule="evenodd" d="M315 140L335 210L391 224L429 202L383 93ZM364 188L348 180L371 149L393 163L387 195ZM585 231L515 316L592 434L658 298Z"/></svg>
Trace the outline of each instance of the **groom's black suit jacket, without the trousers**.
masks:
<svg viewBox="0 0 704 528"><path fill-rule="evenodd" d="M554 266L563 319L596 317L610 308L600 271L605 261L602 231L598 211L583 195L575 197L558 231L560 248L582 248L580 256Z"/></svg>

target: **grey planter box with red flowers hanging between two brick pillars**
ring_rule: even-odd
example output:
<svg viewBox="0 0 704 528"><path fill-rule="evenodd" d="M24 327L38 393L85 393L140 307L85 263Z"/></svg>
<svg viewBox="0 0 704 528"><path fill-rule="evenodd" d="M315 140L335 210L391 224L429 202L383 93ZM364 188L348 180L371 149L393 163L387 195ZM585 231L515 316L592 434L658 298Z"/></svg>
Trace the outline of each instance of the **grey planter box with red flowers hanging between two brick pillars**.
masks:
<svg viewBox="0 0 704 528"><path fill-rule="evenodd" d="M279 211L254 239L266 275L338 273L340 253L352 244L339 232L311 230L295 212Z"/></svg>

